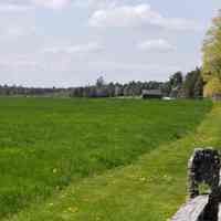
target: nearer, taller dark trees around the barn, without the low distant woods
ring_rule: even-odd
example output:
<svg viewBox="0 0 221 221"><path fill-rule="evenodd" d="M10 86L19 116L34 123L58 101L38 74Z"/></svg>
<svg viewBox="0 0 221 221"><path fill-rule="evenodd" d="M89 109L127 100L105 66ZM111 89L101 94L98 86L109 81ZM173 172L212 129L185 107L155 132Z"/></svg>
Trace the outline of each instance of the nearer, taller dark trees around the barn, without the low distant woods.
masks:
<svg viewBox="0 0 221 221"><path fill-rule="evenodd" d="M131 81L127 84L105 83L103 77L93 86L73 88L72 97L119 97L140 96L146 90L160 90L167 97L199 98L203 95L201 70L197 67L186 76L181 72L172 74L167 82Z"/></svg>

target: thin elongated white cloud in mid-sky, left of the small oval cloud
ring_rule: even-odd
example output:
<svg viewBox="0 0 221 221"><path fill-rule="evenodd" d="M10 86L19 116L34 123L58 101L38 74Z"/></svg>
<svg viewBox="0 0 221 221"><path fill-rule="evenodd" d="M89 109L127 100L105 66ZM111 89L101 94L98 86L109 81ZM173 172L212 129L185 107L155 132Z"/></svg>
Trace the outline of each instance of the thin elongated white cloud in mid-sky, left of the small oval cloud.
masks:
<svg viewBox="0 0 221 221"><path fill-rule="evenodd" d="M103 46L97 42L90 42L86 44L78 45L62 45L62 46L51 46L43 50L44 53L69 53L69 54L78 54L78 53L96 53L103 51Z"/></svg>

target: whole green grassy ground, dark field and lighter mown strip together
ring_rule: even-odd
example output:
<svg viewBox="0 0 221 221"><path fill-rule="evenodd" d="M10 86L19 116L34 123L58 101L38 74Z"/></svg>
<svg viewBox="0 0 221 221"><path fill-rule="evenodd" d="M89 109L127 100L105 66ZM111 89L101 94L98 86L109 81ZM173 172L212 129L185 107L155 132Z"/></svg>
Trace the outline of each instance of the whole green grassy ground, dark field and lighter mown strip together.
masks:
<svg viewBox="0 0 221 221"><path fill-rule="evenodd" d="M165 220L183 200L186 159L210 109L193 101L0 98L0 219Z"/></svg>

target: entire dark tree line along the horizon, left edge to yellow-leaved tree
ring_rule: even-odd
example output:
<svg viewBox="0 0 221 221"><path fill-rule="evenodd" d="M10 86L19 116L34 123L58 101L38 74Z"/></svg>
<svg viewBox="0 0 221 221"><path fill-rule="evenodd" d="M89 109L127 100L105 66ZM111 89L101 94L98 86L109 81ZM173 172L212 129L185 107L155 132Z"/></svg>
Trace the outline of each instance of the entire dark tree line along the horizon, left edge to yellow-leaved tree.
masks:
<svg viewBox="0 0 221 221"><path fill-rule="evenodd" d="M160 90L164 96L198 98L203 93L201 70L196 69L186 76L181 72L172 74L167 82L106 83L101 76L94 85L69 88L43 88L23 86L0 86L1 96L70 96L70 97L120 97L140 96L144 90Z"/></svg>

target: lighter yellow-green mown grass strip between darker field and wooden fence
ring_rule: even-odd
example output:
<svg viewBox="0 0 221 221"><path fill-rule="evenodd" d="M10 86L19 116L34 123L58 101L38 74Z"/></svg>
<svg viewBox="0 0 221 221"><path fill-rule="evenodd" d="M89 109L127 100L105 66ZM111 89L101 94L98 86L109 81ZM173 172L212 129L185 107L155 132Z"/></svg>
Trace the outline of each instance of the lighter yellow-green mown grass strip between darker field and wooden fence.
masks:
<svg viewBox="0 0 221 221"><path fill-rule="evenodd" d="M186 200L187 160L196 147L221 147L221 105L194 134L161 145L134 165L86 178L4 221L161 221Z"/></svg>

